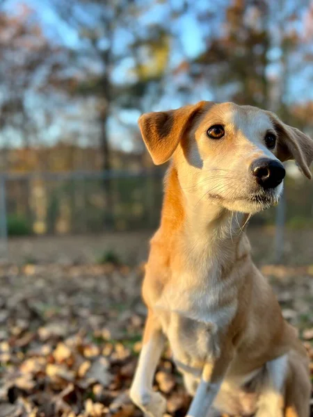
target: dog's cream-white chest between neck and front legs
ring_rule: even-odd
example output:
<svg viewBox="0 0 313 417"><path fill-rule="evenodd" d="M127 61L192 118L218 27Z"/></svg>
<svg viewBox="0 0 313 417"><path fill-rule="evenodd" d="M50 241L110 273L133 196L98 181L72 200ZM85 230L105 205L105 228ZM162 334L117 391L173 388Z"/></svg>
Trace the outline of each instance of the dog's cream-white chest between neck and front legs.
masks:
<svg viewBox="0 0 313 417"><path fill-rule="evenodd" d="M222 286L210 288L209 283L201 283L187 287L169 285L154 310L178 368L194 372L204 361L218 356L220 330L234 317L236 305L223 300L226 288Z"/></svg>

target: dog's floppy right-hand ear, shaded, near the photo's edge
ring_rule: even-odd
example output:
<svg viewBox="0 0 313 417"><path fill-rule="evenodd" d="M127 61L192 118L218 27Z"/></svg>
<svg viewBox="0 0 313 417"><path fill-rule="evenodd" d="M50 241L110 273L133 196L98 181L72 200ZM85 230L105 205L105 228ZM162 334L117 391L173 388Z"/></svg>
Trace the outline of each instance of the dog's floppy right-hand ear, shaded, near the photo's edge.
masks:
<svg viewBox="0 0 313 417"><path fill-rule="evenodd" d="M284 124L273 113L271 113L271 119L274 129L278 133L278 158L282 162L294 159L305 177L311 179L310 165L313 161L313 140L299 129Z"/></svg>

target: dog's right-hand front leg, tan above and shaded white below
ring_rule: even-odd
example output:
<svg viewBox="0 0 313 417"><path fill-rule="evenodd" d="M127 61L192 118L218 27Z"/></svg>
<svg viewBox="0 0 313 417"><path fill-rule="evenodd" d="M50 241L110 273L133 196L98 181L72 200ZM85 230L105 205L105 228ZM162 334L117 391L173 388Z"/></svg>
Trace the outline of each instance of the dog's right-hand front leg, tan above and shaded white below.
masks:
<svg viewBox="0 0 313 417"><path fill-rule="evenodd" d="M216 398L233 357L233 348L228 348L212 363L206 363L202 370L200 384L193 397L186 417L207 416Z"/></svg>

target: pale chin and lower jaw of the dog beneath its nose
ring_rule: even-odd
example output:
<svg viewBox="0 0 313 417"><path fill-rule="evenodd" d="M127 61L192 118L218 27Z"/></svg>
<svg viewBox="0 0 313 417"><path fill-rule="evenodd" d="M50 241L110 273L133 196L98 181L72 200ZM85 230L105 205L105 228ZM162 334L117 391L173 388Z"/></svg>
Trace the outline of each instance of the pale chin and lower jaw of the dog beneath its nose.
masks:
<svg viewBox="0 0 313 417"><path fill-rule="evenodd" d="M266 210L266 208L277 206L281 193L282 187L277 187L270 190L257 190L246 196L234 197L232 199L224 198L222 195L212 197L213 202L220 204L227 210L255 214Z"/></svg>

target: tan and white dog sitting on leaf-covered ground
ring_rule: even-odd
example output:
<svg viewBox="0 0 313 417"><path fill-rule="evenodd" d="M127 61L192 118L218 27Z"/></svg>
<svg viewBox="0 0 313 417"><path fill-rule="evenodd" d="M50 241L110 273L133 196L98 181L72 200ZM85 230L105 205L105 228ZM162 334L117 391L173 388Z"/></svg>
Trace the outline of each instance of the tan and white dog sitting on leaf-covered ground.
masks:
<svg viewBox="0 0 313 417"><path fill-rule="evenodd" d="M309 363L244 232L277 204L283 161L311 178L313 140L270 111L210 101L142 115L155 164L171 160L160 227L150 242L147 320L131 400L161 417L153 391L166 342L193 396L188 417L308 417Z"/></svg>

